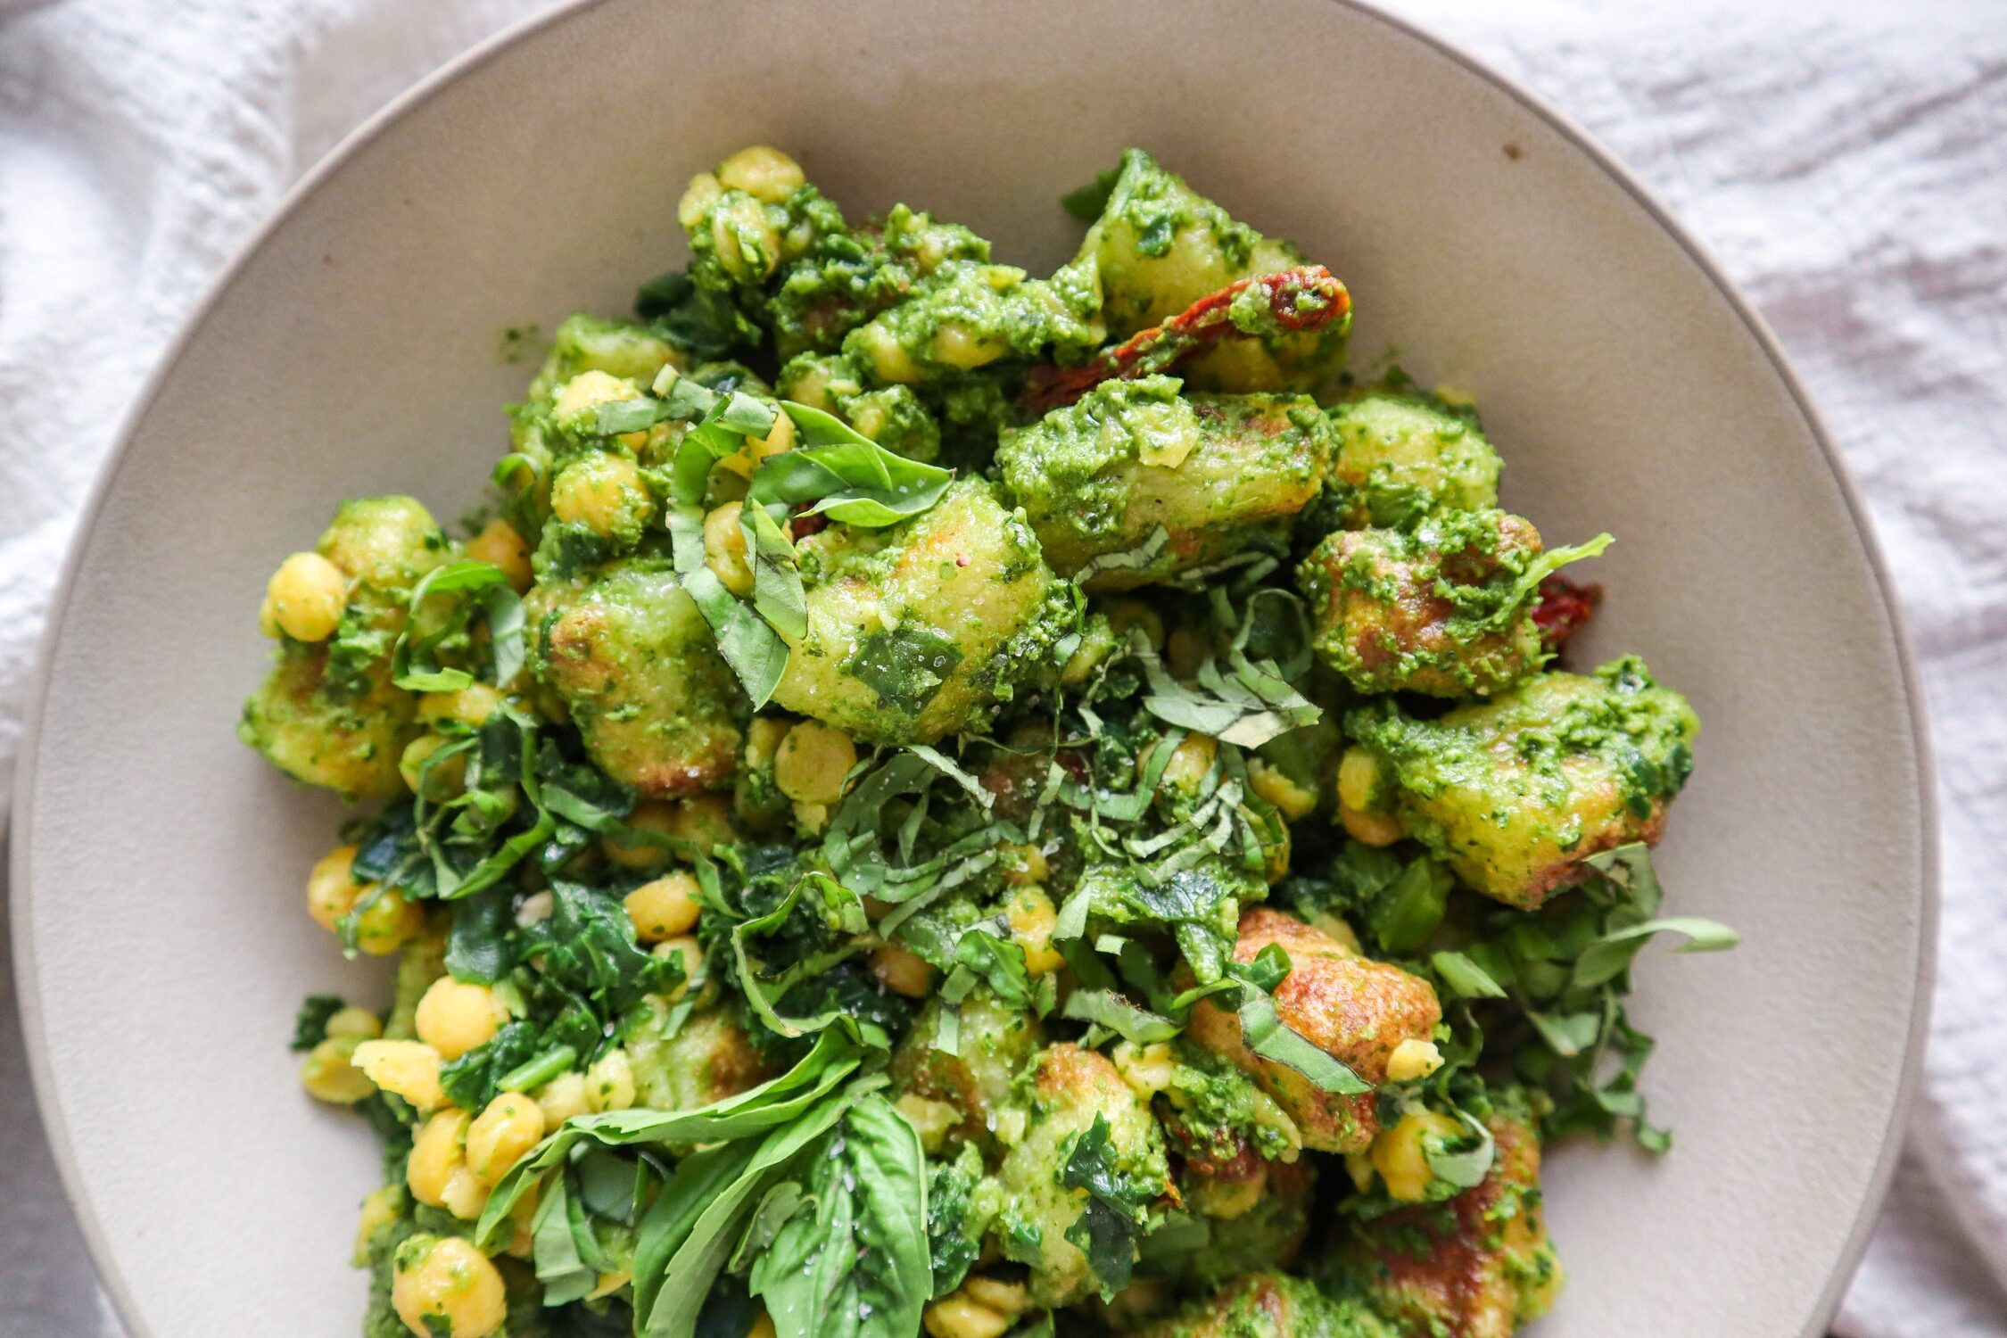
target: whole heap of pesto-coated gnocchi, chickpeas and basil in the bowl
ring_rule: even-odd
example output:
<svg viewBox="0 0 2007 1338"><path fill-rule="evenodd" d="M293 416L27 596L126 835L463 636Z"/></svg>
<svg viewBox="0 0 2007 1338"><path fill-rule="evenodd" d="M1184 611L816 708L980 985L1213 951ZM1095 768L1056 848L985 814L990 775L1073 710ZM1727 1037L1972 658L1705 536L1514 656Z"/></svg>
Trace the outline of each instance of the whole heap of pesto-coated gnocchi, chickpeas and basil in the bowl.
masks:
<svg viewBox="0 0 2007 1338"><path fill-rule="evenodd" d="M741 148L460 538L271 554L241 734L397 963L293 1035L367 1338L1503 1338L1541 1139L1666 1147L1630 961L1734 933L1648 857L1690 706L1559 664L1608 538L1146 152L1064 207L1036 275Z"/></svg>

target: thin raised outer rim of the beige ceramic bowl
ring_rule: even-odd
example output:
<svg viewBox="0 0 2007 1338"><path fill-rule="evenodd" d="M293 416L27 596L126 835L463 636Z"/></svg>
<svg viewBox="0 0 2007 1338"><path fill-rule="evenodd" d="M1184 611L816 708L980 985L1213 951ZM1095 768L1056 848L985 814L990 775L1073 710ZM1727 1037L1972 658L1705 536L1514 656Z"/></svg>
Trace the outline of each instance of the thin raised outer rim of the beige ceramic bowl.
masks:
<svg viewBox="0 0 2007 1338"><path fill-rule="evenodd" d="M90 489L84 495L84 504L76 514L76 528L64 550L62 566L58 570L56 586L50 594L46 622L36 646L34 656L34 676L30 678L30 688L26 696L26 712L20 732L20 752L16 754L14 772L14 798L10 810L10 822L0 837L6 837L8 845L8 933L12 937L12 967L14 967L14 995L20 1013L22 1041L28 1053L28 1077L34 1087L36 1109L42 1117L42 1133L48 1139L50 1155L56 1163L56 1176L62 1184L64 1198L70 1204L70 1212L76 1218L78 1230L84 1238L84 1248L90 1252L90 1264L96 1272L98 1288L110 1298L118 1322L124 1326L130 1338L159 1338L159 1330L145 1318L132 1296L124 1274L118 1268L118 1260L106 1240L102 1228L98 1226L96 1210L84 1186L82 1169L76 1161L76 1149L70 1141L70 1131L60 1119L60 1107L54 1095L54 1071L48 1051L46 1019L42 1017L40 989L30 987L30 981L40 981L34 971L34 933L32 933L32 909L30 909L30 867L28 867L28 843L20 839L22 832L30 830L34 820L34 764L40 754L42 724L48 706L50 674L54 668L56 644L62 638L62 626L70 612L70 602L74 596L76 572L82 566L84 550L88 548L90 536L96 532L98 518L104 510L106 497L112 491L120 469L124 467L126 455L130 453L134 433L138 423L153 409L173 375L175 367L181 363L187 347L195 341L197 333L209 321L213 309L221 301L223 293L237 281L243 269L271 239L283 229L291 217L313 197L319 187L341 171L363 146L373 142L391 124L401 120L409 110L429 102L450 84L460 80L464 74L488 64L496 56L508 52L540 34L544 28L556 26L580 14L584 10L600 6L604 0L558 0L550 8L520 18L502 30L490 34L488 38L476 42L468 50L460 52L452 60L440 64L429 74L413 82L409 88L393 96L389 102L379 106L367 118L363 118L355 128L341 136L313 166L309 166L273 205L271 213L251 229L243 243L235 249L231 259L217 271L217 275L203 287L195 305L181 319L175 335L163 347L153 369L147 373L147 381L140 385L138 393L126 407L124 417L118 423L118 431L112 437L110 449L106 449L100 461ZM1919 816L1919 853L1921 869L1921 907L1919 907L1919 945L1917 945L1917 967L1915 967L1915 987L1911 995L1911 1021L1909 1037L1903 1051L1903 1069L1897 1081L1895 1103L1891 1105L1889 1123L1883 1129L1881 1149L1877 1151L1875 1169L1869 1178L1869 1190L1860 1200L1860 1208L1854 1216L1852 1228L1834 1256L1826 1286L1814 1300L1810 1312L1806 1314L1800 1338L1820 1338L1826 1332L1840 1300L1852 1282L1854 1268L1860 1256L1867 1252L1869 1236L1875 1230L1875 1222L1881 1214L1883 1202L1889 1198L1889 1188L1895 1180L1895 1169L1903 1151L1903 1133L1909 1125L1911 1109L1917 1103L1917 1093L1923 1079L1923 1049L1929 1037L1931 1025L1931 995L1937 981L1937 929L1939 929L1939 901L1941 901L1941 828L1937 812L1937 762L1931 742L1931 720L1927 698L1923 692L1923 680L1917 672L1917 654L1909 636L1909 622L1903 612L1903 604L1895 586L1895 576L1889 570L1889 560L1883 554L1881 540L1875 532L1875 520L1860 495L1858 485L1842 457L1840 449L1834 445L1824 419L1820 417L1816 405L1812 403L1810 391L1798 379L1790 357L1784 353L1782 343L1772 333L1770 325L1762 319L1756 307L1742 295L1736 283L1716 261L1714 253L1694 237L1686 225L1682 225L1672 211L1644 185L1614 152L1602 146L1602 142L1592 136L1586 128L1575 124L1571 116L1553 106L1545 96L1521 84L1517 78L1493 68L1491 64L1469 54L1453 40L1431 32L1415 20L1399 14L1391 14L1381 8L1381 0L1325 0L1327 4L1343 10L1351 10L1369 22L1377 22L1397 36L1417 42L1437 56L1451 60L1461 66L1467 74L1491 84L1495 90L1503 92L1527 112L1543 120L1551 130L1565 138L1575 150L1580 150L1590 162L1594 162L1614 185L1618 185L1632 201L1644 209L1650 219L1664 229L1668 237L1686 253L1686 257L1700 269L1702 277L1714 287L1714 291L1728 303L1730 313L1742 323L1748 335L1756 341L1770 369L1782 381L1784 389L1790 393L1792 405L1798 409L1812 439L1818 445L1820 455L1826 461L1832 481L1838 485L1840 499L1846 506L1848 520L1852 520L1854 534L1860 540L1860 548L1869 560L1869 570L1875 576L1875 586L1881 592L1883 612L1889 618L1889 630L1895 640L1897 668L1903 688L1903 698L1909 714L1911 738L1917 748L1917 816Z"/></svg>

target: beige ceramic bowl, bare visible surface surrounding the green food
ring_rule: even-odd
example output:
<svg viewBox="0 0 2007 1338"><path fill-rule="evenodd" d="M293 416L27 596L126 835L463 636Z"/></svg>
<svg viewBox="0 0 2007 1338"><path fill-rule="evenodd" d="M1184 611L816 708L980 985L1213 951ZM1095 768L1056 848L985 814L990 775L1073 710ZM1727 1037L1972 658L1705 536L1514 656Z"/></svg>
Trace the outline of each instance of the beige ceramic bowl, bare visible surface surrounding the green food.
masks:
<svg viewBox="0 0 2007 1338"><path fill-rule="evenodd" d="M680 185L795 150L1060 261L1130 142L1329 261L1355 355L1475 391L1507 504L1610 528L1588 654L1706 722L1662 871L1740 951L1648 953L1666 1159L1551 1157L1547 1338L1814 1334L1887 1184L1923 1023L1933 822L1887 576L1770 337L1618 166L1497 76L1331 0L604 0L460 62L291 199L185 331L56 606L14 822L14 935L64 1178L136 1338L351 1338L375 1184L285 1051L373 989L301 913L335 804L233 736L259 592L335 499L480 497L500 331L626 309Z"/></svg>

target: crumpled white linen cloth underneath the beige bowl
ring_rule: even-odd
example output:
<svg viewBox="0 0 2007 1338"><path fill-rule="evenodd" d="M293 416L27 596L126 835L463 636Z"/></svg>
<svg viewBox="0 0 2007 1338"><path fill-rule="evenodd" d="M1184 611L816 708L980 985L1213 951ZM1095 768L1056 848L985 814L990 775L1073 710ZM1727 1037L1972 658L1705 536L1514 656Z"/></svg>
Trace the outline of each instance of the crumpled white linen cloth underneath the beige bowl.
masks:
<svg viewBox="0 0 2007 1338"><path fill-rule="evenodd" d="M165 341L343 132L542 2L0 16L0 814L76 508ZM1869 495L1935 712L1945 911L1909 1155L1836 1332L2007 1338L2007 24L1985 0L1393 8L1658 191L1784 339ZM0 1338L108 1338L4 963Z"/></svg>

